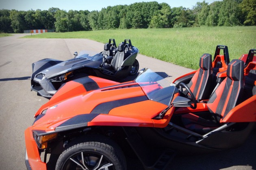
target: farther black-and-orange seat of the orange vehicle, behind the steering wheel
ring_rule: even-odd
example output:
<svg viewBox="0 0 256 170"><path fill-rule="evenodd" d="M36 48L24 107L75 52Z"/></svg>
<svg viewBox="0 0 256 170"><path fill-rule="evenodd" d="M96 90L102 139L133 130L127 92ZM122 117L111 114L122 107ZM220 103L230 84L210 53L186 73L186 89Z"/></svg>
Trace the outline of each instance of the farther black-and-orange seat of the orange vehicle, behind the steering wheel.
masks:
<svg viewBox="0 0 256 170"><path fill-rule="evenodd" d="M211 69L212 69L212 55L203 54L200 57L199 62L200 68L195 72L193 78L188 84L195 99L199 102L200 100L208 99L211 91Z"/></svg>

